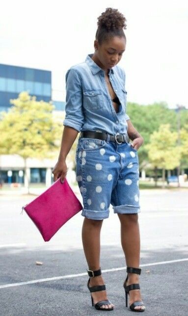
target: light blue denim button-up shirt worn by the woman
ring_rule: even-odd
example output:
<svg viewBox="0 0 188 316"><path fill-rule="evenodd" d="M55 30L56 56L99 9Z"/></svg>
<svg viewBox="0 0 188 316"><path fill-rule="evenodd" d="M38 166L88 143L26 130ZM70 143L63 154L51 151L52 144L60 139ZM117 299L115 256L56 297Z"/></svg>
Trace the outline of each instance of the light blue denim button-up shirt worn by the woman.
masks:
<svg viewBox="0 0 188 316"><path fill-rule="evenodd" d="M116 65L109 70L109 80L119 98L116 113L105 80L105 71L88 54L85 61L68 69L66 79L66 105L63 125L81 131L101 131L110 134L127 133L127 91L125 72Z"/></svg>

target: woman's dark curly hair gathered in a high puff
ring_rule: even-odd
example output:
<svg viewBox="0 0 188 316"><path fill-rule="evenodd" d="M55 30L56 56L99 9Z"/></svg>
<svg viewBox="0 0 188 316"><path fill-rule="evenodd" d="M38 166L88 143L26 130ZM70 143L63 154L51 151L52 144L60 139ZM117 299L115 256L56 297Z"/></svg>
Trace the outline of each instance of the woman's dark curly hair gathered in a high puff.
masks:
<svg viewBox="0 0 188 316"><path fill-rule="evenodd" d="M126 29L127 20L117 9L106 8L97 19L98 28L95 37L100 45L114 36L126 39L123 29Z"/></svg>

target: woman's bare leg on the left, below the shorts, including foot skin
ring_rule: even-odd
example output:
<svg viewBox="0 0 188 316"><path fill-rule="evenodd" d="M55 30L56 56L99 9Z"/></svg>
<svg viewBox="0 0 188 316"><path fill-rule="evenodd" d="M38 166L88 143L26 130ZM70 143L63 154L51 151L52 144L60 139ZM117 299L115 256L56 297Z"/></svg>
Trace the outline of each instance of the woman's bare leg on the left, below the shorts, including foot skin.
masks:
<svg viewBox="0 0 188 316"><path fill-rule="evenodd" d="M84 218L82 226L82 243L85 258L89 270L98 270L100 268L100 233L103 220L94 220ZM91 277L89 287L96 285L104 285L104 280L101 275ZM106 290L92 292L94 304L107 299ZM113 304L103 305L101 308L111 308Z"/></svg>

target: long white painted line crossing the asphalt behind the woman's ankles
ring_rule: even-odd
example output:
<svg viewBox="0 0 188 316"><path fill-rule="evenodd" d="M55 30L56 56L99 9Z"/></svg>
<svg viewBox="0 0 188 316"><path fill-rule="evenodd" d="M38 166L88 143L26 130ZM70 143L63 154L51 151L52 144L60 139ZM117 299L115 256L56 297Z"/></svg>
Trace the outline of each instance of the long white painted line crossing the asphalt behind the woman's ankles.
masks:
<svg viewBox="0 0 188 316"><path fill-rule="evenodd" d="M155 263L145 263L145 264L140 264L139 266L150 266L150 265L176 263L176 262L184 262L184 261L188 261L188 258L177 259L177 260L169 260L169 261L161 261L161 262L155 262ZM120 270L125 270L125 269L126 269L126 267L123 266L123 267L120 267L120 268L112 268L112 269L102 270L102 272L105 273L105 272L120 271ZM27 285L27 284L35 284L35 283L47 282L47 281L62 280L62 279L68 279L68 278L76 278L76 277L80 277L80 276L83 276L83 275L87 275L87 272L78 273L78 274L67 274L67 275L53 277L53 278L31 280L31 281L25 281L25 282L19 282L19 283L3 284L3 285L0 285L0 289L17 287L17 286Z"/></svg>

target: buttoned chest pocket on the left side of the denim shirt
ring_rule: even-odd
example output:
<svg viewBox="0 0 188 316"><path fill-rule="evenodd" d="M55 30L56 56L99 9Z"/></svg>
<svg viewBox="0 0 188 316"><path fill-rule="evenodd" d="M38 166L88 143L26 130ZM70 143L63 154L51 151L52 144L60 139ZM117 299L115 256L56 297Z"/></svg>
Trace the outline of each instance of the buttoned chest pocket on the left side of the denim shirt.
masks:
<svg viewBox="0 0 188 316"><path fill-rule="evenodd" d="M98 110L102 108L102 91L100 89L83 91L83 106L89 110Z"/></svg>

